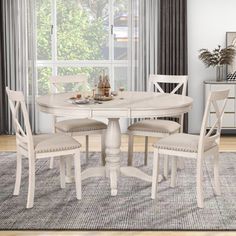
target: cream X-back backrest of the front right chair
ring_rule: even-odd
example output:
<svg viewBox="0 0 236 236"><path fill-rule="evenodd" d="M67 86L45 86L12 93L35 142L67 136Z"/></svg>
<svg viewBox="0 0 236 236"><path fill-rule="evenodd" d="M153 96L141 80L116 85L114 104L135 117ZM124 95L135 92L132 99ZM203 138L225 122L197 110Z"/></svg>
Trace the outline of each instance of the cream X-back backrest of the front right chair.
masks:
<svg viewBox="0 0 236 236"><path fill-rule="evenodd" d="M216 142L216 144L219 144L222 119L228 95L229 90L212 91L208 95L200 132L199 153L204 152L204 145L207 142ZM214 109L216 120L211 124L211 127L208 127L209 116L212 112L211 107Z"/></svg>

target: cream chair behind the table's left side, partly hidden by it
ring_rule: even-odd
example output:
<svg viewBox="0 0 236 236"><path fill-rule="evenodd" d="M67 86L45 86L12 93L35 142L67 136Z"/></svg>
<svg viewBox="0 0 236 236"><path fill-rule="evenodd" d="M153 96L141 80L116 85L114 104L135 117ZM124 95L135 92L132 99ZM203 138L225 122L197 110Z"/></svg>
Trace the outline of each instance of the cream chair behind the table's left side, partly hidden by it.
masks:
<svg viewBox="0 0 236 236"><path fill-rule="evenodd" d="M51 93L64 92L64 86L76 86L76 89L85 90L88 78L84 74L52 76L50 78ZM107 125L94 119L67 119L58 121L57 116L53 117L53 127L55 133L66 133L71 136L85 136L86 138L86 161L89 156L89 135L101 135L101 156L102 164L105 165L105 132ZM69 161L69 160L68 160ZM53 168L53 157L50 160L50 168ZM70 167L67 168L69 172ZM70 174L68 174L70 175Z"/></svg>

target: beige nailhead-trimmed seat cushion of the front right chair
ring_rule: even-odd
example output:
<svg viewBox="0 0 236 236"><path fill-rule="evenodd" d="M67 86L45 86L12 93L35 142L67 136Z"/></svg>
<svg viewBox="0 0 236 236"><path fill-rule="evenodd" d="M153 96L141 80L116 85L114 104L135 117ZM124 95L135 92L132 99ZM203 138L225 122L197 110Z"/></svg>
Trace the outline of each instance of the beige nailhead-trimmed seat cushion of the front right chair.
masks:
<svg viewBox="0 0 236 236"><path fill-rule="evenodd" d="M199 135L191 134L173 134L168 137L160 139L153 145L155 148L168 149L182 152L197 152ZM216 142L212 140L206 140L204 142L204 150L207 151L210 148L216 146Z"/></svg>

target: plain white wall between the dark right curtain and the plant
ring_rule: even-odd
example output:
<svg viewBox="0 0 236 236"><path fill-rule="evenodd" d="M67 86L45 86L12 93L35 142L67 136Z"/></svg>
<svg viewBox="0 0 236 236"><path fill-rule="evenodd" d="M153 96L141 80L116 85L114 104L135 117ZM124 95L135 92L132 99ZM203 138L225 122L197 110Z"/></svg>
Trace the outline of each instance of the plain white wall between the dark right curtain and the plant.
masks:
<svg viewBox="0 0 236 236"><path fill-rule="evenodd" d="M198 59L199 49L225 46L226 32L236 32L236 0L188 0L189 132L198 133L203 116L203 81L215 79L215 70Z"/></svg>

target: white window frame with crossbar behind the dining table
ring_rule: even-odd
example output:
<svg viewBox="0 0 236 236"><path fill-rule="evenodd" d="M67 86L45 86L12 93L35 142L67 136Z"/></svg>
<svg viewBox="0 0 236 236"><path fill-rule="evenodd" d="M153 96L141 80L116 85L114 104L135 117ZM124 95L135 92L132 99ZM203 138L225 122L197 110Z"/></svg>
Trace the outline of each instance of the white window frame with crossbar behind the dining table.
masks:
<svg viewBox="0 0 236 236"><path fill-rule="evenodd" d="M113 34L114 26L114 3L115 0L108 0L109 4L109 57L107 60L58 60L57 59L57 0L51 0L51 60L38 60L36 59L36 68L49 67L52 69L52 76L58 75L59 67L107 67L109 71L110 84L114 88L115 85L115 68L129 66L129 42L131 39L131 1L128 1L128 45L127 45L127 59L126 60L115 60L114 50L115 50L115 40ZM36 43L37 45L37 43ZM37 47L37 46L36 46ZM36 48L37 52L37 48ZM37 58L37 57L36 57ZM38 73L36 73L38 75ZM129 78L129 73L127 74ZM36 83L37 93L38 93L38 78ZM128 88L130 87L130 81L127 81Z"/></svg>

